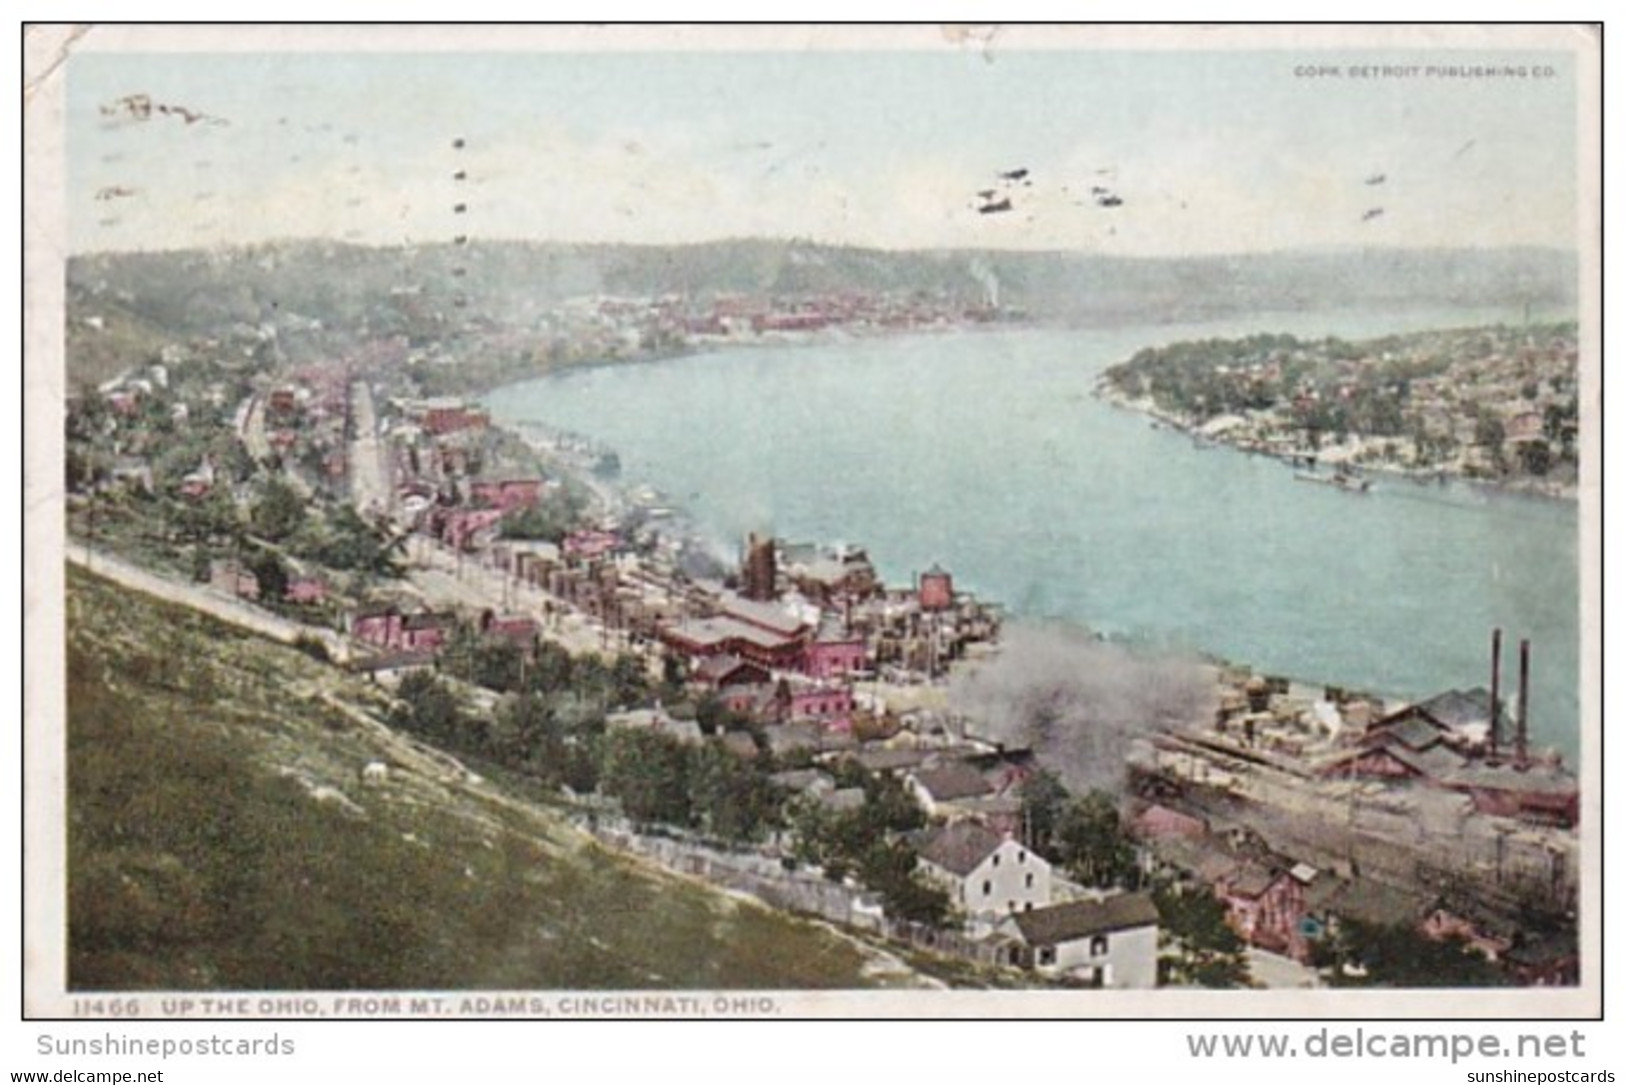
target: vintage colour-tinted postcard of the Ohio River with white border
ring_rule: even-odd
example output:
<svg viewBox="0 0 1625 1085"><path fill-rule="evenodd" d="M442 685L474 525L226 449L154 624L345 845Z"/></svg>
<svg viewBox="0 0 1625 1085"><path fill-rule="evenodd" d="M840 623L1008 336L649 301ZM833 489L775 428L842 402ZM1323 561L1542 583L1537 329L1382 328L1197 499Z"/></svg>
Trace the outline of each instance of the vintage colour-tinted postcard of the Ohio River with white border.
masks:
<svg viewBox="0 0 1625 1085"><path fill-rule="evenodd" d="M1596 29L24 50L26 1017L1601 1014Z"/></svg>

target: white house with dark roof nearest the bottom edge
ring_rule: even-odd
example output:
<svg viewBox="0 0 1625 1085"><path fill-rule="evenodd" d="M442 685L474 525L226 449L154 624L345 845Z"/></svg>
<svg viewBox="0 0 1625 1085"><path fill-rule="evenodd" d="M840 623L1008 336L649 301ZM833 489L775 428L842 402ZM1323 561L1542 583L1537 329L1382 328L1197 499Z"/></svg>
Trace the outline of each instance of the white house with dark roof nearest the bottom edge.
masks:
<svg viewBox="0 0 1625 1085"><path fill-rule="evenodd" d="M1024 962L1037 971L1100 988L1157 986L1157 906L1149 893L1019 911L999 932L1025 947Z"/></svg>

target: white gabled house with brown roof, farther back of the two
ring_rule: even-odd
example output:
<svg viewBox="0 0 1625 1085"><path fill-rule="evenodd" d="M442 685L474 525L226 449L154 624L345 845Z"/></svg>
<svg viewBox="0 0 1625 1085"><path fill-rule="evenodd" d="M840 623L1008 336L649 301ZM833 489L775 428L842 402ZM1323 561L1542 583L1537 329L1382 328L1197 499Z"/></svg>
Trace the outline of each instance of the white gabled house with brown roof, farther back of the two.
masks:
<svg viewBox="0 0 1625 1085"><path fill-rule="evenodd" d="M920 871L973 919L1050 903L1050 864L978 822L954 822L928 835L920 845Z"/></svg>

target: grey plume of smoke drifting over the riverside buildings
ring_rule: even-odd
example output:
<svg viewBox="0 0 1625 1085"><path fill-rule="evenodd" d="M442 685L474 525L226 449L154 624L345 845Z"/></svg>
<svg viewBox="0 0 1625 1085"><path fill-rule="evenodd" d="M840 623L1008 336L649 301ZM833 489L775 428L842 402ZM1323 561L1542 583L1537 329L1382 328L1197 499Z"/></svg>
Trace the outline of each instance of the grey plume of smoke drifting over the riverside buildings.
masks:
<svg viewBox="0 0 1625 1085"><path fill-rule="evenodd" d="M998 656L952 681L949 705L975 734L1030 746L1072 791L1120 791L1138 739L1211 718L1216 682L1198 659L1064 625L1009 625L1001 640Z"/></svg>

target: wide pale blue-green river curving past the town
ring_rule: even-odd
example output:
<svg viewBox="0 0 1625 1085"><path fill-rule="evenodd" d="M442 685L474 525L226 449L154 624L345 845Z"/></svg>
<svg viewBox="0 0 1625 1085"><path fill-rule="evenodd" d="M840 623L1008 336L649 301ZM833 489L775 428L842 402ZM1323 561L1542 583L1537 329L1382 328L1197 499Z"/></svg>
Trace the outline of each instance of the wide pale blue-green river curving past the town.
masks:
<svg viewBox="0 0 1625 1085"><path fill-rule="evenodd" d="M500 388L497 421L613 447L734 552L746 531L861 542L889 583L933 562L1022 617L1064 619L1389 695L1488 685L1490 629L1532 645L1532 741L1578 750L1578 513L1380 478L1368 495L1090 395L1142 346L1365 338L1513 312L1259 315L734 348Z"/></svg>

